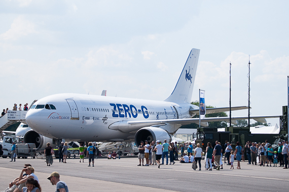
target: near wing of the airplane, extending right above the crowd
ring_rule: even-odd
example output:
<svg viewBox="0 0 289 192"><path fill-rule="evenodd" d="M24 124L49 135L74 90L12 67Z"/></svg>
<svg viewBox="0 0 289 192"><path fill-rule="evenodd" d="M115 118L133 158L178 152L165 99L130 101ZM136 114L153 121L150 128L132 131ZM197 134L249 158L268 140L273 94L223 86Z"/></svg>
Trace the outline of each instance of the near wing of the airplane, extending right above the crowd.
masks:
<svg viewBox="0 0 289 192"><path fill-rule="evenodd" d="M266 122L265 118L279 118L278 115L272 116L251 116L251 119L256 121ZM232 121L240 120L240 119L248 119L248 117L232 117ZM201 119L201 123L205 122L213 122L213 121L229 121L230 117L209 117ZM264 121L265 120L265 121ZM178 125L187 125L191 123L199 124L199 118L187 118L187 119L164 119L164 120L153 120L153 121L118 121L112 123L109 126L109 129L119 130L122 132L132 132L136 131L142 127L149 126L161 126L166 124L178 124Z"/></svg>

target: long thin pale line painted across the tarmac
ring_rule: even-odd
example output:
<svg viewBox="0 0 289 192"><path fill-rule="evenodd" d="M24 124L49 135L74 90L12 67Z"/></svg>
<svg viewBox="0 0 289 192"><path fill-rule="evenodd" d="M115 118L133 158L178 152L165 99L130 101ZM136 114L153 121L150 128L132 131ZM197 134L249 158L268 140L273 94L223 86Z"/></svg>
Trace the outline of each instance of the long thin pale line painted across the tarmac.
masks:
<svg viewBox="0 0 289 192"><path fill-rule="evenodd" d="M145 169L156 169L147 166L135 167L135 166L124 166L124 165L107 165L107 164L97 164L97 165L106 165L106 166L116 166L116 167L131 167L131 168L145 168ZM152 165L155 166L155 165ZM163 165L164 166L164 165ZM162 166L161 166L162 167ZM260 178L260 179L271 179L271 180L283 180L289 181L289 179L280 179L280 178L270 178L270 177L257 177L257 176L248 176L248 175L234 175L234 174L226 174L226 173L212 173L212 172L200 172L200 171L186 171L186 170L173 170L173 169L159 169L165 171L179 171L179 172L190 172L190 173L202 173L202 174L211 174L211 175L228 175L228 176L237 176L237 177L249 177L249 178Z"/></svg>

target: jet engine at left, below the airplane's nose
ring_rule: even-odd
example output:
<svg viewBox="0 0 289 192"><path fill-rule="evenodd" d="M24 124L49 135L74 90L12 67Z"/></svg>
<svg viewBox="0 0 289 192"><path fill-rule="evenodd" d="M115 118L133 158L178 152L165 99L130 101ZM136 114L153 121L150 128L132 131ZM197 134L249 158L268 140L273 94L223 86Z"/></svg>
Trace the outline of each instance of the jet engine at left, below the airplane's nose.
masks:
<svg viewBox="0 0 289 192"><path fill-rule="evenodd" d="M48 138L45 136L42 136L41 134L38 134L37 132L35 132L34 130L30 129L28 130L24 137L23 137L23 142L25 143L35 143L35 146L37 149L44 149L46 148L46 143L50 142L51 143L51 147L54 148L56 147L55 141L53 142L52 138Z"/></svg>

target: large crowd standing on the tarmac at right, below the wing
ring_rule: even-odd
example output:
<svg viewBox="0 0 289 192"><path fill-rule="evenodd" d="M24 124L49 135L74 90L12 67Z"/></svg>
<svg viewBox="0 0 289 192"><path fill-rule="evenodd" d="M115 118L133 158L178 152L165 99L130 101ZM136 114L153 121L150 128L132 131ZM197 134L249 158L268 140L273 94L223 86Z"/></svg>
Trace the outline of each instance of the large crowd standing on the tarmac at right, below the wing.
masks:
<svg viewBox="0 0 289 192"><path fill-rule="evenodd" d="M155 141L152 141L149 144L148 140L145 140L144 143L143 141L140 141L138 150L139 164L137 166L158 165L158 168L160 168L161 165L164 165L164 158L166 158L166 165L174 165L175 160L180 163L193 163L194 166L192 166L192 168L196 170L198 164L199 171L201 171L201 160L203 155L205 156L205 170L210 171L212 169L223 169L223 165L226 164L226 161L227 165L231 166L231 169L234 169L234 162L237 161L237 169L241 169L240 162L244 161L245 154L248 159L247 164L277 167L277 164L279 163L279 167L287 169L289 155L288 141L285 140L278 143L277 151L272 149L272 145L270 145L268 140L263 143L247 141L244 147L240 145L240 142L236 142L235 151L232 148L232 143L228 140L226 140L224 148L219 141L215 141L214 147L208 142L205 152L203 152L199 143L194 145L189 142L183 145L176 141L167 143L167 141L164 140L163 144L161 144L160 140L157 140L156 143ZM178 151L180 151L181 156L179 160ZM170 164L168 164L168 156ZM144 164L144 159L146 159L146 164ZM161 159L162 162L160 162Z"/></svg>

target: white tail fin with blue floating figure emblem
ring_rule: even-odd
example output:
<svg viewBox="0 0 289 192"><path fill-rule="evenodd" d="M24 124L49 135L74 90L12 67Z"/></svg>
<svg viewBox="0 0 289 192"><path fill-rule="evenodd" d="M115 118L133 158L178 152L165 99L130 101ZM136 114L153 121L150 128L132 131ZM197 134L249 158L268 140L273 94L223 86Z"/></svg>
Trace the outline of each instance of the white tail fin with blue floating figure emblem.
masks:
<svg viewBox="0 0 289 192"><path fill-rule="evenodd" d="M191 103L200 50L192 49L178 81L166 102Z"/></svg>

